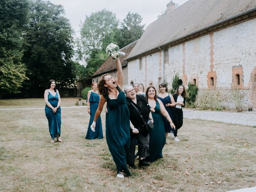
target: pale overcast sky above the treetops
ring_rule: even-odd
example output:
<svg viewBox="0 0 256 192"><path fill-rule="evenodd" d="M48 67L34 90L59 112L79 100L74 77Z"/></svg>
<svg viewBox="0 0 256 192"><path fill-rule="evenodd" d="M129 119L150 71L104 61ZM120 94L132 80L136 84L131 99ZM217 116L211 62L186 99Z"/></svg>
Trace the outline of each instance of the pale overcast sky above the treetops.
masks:
<svg viewBox="0 0 256 192"><path fill-rule="evenodd" d="M79 36L80 23L84 22L85 16L91 13L110 10L116 14L120 21L126 17L128 12L138 13L142 16L142 24L148 26L157 19L170 0L49 0L53 4L61 4L66 12L66 18L70 20L72 28ZM182 5L188 0L173 0L174 3Z"/></svg>

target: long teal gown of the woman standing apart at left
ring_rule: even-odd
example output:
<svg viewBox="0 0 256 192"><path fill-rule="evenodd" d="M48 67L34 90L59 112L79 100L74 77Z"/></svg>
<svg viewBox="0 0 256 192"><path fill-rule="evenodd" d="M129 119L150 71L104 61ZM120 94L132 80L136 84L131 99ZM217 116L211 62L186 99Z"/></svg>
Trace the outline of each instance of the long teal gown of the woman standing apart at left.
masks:
<svg viewBox="0 0 256 192"><path fill-rule="evenodd" d="M48 94L48 102L55 108L58 105L58 92L53 96L50 92ZM61 108L59 107L56 113L53 113L52 109L45 105L45 115L48 119L49 132L52 138L56 138L57 134L60 136L60 124L61 124Z"/></svg>

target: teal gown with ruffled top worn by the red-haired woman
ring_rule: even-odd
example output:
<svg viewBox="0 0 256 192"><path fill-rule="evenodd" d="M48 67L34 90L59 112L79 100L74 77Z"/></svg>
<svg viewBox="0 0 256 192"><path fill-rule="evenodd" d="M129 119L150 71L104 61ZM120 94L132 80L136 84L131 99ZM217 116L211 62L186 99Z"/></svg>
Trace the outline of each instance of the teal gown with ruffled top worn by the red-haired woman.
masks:
<svg viewBox="0 0 256 192"><path fill-rule="evenodd" d="M103 132L102 132L102 124L101 124L101 118L100 116L98 117L97 121L96 121L96 126L95 126L95 132L93 132L90 128L93 119L94 119L94 115L96 113L96 110L99 106L99 101L100 101L100 96L97 93L94 93L91 91L91 95L89 98L89 102L90 102L90 122L88 125L88 129L87 129L87 134L85 136L86 139L102 139L103 138Z"/></svg>

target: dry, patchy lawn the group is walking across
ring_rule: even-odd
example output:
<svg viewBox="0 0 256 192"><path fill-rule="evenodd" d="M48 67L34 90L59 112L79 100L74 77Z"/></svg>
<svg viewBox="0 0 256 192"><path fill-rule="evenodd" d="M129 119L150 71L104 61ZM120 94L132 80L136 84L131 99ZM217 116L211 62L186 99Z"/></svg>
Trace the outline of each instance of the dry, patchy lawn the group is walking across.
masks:
<svg viewBox="0 0 256 192"><path fill-rule="evenodd" d="M76 99L63 98L62 106ZM44 101L0 104L31 108ZM223 192L256 186L254 127L184 119L181 142L168 138L164 158L117 179L106 138L84 139L90 118L86 108L62 109L63 143L50 143L43 109L0 110L0 118L1 192ZM103 128L104 119L102 112Z"/></svg>

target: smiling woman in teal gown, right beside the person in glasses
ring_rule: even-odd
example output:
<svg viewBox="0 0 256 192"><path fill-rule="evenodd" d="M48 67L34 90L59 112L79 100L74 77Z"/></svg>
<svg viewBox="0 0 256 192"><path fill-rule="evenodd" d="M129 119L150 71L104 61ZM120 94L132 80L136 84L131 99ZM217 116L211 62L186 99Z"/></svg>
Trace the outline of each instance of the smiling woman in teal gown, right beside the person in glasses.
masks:
<svg viewBox="0 0 256 192"><path fill-rule="evenodd" d="M161 100L156 98L156 88L154 86L147 88L146 99L151 107L152 117L154 119L154 128L149 135L149 157L147 160L154 162L158 158L163 158L162 149L166 141L164 123L161 115L168 120L172 128L175 129L175 126Z"/></svg>

